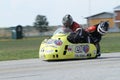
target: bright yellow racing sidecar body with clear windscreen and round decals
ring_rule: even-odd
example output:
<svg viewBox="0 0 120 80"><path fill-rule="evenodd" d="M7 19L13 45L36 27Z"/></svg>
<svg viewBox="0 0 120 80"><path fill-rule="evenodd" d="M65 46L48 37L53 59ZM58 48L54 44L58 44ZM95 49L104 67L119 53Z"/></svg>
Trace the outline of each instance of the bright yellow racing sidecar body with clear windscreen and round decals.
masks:
<svg viewBox="0 0 120 80"><path fill-rule="evenodd" d="M43 60L64 60L97 58L97 49L91 43L73 44L67 40L69 32L57 29L53 36L42 41L39 58Z"/></svg>

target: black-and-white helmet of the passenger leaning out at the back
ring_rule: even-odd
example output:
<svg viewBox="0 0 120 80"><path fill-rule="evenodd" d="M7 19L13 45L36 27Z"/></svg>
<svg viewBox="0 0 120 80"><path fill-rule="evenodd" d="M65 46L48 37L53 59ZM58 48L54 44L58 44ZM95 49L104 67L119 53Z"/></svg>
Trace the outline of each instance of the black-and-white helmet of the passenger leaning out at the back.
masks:
<svg viewBox="0 0 120 80"><path fill-rule="evenodd" d="M97 31L101 34L104 35L105 33L107 33L109 28L109 24L108 22L101 22L98 27L97 27Z"/></svg>

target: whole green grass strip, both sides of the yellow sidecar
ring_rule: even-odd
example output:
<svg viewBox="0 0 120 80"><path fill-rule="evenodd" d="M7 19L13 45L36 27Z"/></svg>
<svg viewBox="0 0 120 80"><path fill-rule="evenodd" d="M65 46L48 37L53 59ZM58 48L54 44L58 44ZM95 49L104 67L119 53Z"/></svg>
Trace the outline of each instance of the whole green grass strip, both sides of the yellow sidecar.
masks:
<svg viewBox="0 0 120 80"><path fill-rule="evenodd" d="M0 40L0 61L38 58L39 46L44 38ZM102 53L120 52L120 33L108 33L103 36L100 45Z"/></svg>

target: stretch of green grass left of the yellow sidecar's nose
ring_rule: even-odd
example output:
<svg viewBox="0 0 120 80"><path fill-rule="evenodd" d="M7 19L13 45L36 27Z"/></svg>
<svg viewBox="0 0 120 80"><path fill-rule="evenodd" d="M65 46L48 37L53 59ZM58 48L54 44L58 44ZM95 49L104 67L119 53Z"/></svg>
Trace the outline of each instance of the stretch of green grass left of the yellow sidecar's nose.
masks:
<svg viewBox="0 0 120 80"><path fill-rule="evenodd" d="M1 40L0 61L38 58L39 46L45 37L22 40Z"/></svg>

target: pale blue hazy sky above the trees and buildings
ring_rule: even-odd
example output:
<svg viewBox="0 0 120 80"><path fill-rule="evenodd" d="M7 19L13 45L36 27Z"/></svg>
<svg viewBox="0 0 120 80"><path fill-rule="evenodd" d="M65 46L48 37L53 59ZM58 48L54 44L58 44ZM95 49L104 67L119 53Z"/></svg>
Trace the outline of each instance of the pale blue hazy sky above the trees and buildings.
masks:
<svg viewBox="0 0 120 80"><path fill-rule="evenodd" d="M101 12L113 12L120 0L0 0L0 27L33 25L37 15L47 17L49 25L62 25L70 14L79 24L85 17Z"/></svg>

